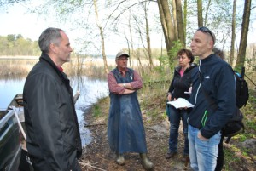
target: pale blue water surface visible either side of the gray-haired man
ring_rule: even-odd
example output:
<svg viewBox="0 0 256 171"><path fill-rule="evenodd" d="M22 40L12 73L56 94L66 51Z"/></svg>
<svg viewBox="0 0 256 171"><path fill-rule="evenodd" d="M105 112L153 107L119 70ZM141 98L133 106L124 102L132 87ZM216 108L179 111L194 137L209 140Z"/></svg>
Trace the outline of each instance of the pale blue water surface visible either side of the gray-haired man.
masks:
<svg viewBox="0 0 256 171"><path fill-rule="evenodd" d="M0 79L0 108L6 109L15 94L22 94L26 78ZM88 77L70 77L73 93L80 92L79 100L75 107L79 119L79 128L82 145L90 143L90 130L84 127L84 114L90 109L90 105L102 97L108 96L108 84L106 80L90 79Z"/></svg>

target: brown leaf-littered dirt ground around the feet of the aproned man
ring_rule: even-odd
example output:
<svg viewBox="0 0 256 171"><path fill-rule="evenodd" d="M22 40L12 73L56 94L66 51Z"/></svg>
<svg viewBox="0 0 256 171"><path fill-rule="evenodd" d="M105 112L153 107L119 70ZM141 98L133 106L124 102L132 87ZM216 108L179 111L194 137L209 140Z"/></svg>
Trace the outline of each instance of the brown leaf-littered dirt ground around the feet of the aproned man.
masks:
<svg viewBox="0 0 256 171"><path fill-rule="evenodd" d="M146 118L143 118L144 120ZM119 166L114 162L115 154L109 150L107 140L107 119L96 119L89 113L86 117L88 128L92 133L92 142L86 146L80 162L85 170L144 170L137 153L125 154L125 165ZM178 147L177 157L166 160L165 154L168 149L169 123L164 121L157 125L145 125L148 157L154 163L154 170L185 170L185 163L181 161L183 147ZM183 144L183 137L180 138ZM189 165L187 163L187 165Z"/></svg>

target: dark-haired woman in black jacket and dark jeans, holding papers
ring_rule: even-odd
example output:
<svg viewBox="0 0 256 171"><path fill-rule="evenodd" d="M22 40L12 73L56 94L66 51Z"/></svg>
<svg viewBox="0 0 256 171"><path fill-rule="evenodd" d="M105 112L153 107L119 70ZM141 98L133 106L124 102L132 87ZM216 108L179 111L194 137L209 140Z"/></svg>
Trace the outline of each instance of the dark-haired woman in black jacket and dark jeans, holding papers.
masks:
<svg viewBox="0 0 256 171"><path fill-rule="evenodd" d="M195 68L193 64L194 56L189 49L181 49L177 53L178 66L174 70L172 83L167 93L167 100L177 100L178 98L189 99L189 88L191 86L190 71ZM189 161L189 140L188 140L188 123L187 109L176 109L172 105L168 106L168 117L171 123L169 150L166 153L166 159L172 158L177 154L178 128L180 120L183 122L184 149L182 161Z"/></svg>

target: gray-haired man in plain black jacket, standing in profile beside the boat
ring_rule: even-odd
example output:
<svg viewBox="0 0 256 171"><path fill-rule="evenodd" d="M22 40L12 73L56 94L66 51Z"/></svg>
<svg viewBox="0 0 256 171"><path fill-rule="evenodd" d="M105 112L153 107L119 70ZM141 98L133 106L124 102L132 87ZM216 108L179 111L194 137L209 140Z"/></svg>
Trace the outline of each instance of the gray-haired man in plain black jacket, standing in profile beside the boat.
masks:
<svg viewBox="0 0 256 171"><path fill-rule="evenodd" d="M81 170L79 123L73 89L61 66L72 48L64 31L48 28L39 37L42 51L23 90L26 147L34 170Z"/></svg>

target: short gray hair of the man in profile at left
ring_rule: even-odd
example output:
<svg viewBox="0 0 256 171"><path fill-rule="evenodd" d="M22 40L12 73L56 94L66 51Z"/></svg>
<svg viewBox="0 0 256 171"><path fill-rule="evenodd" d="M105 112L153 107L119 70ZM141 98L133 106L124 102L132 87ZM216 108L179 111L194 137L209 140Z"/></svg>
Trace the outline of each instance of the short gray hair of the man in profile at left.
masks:
<svg viewBox="0 0 256 171"><path fill-rule="evenodd" d="M49 27L42 32L38 40L38 45L43 53L49 53L50 43L61 43L61 31L59 28Z"/></svg>

